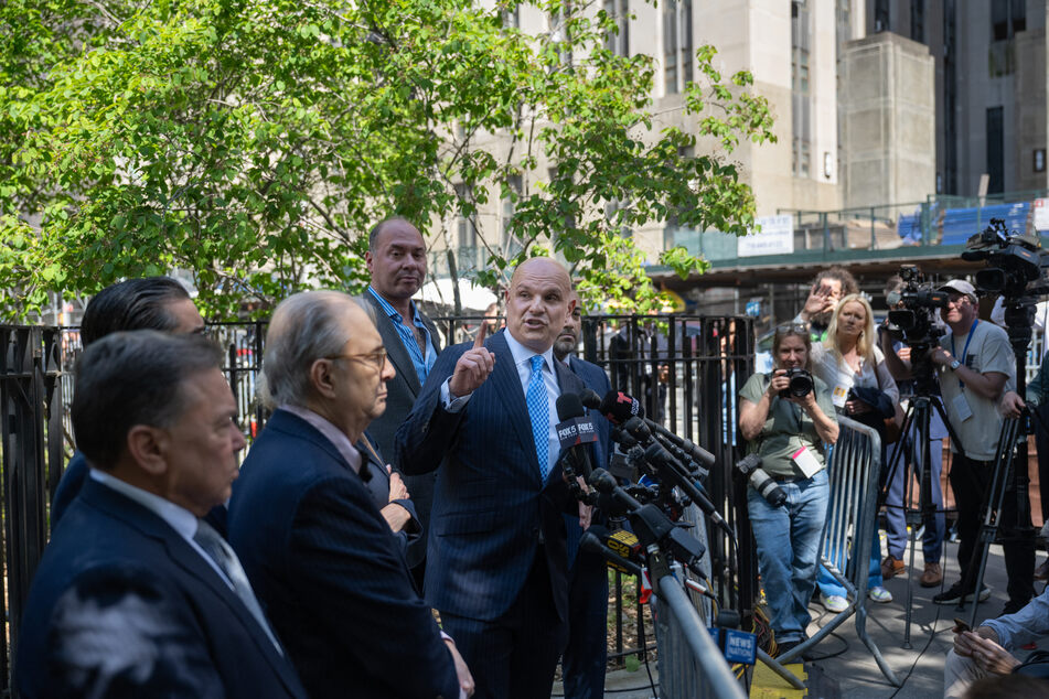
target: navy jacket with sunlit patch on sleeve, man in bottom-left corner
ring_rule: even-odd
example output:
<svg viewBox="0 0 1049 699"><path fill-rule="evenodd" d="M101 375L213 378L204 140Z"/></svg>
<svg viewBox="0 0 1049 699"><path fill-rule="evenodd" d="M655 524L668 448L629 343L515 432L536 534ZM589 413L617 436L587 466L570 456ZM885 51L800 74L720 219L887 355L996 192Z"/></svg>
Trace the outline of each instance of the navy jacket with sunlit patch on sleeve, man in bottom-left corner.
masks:
<svg viewBox="0 0 1049 699"><path fill-rule="evenodd" d="M240 599L163 519L88 478L64 521L22 615L22 697L306 697Z"/></svg>

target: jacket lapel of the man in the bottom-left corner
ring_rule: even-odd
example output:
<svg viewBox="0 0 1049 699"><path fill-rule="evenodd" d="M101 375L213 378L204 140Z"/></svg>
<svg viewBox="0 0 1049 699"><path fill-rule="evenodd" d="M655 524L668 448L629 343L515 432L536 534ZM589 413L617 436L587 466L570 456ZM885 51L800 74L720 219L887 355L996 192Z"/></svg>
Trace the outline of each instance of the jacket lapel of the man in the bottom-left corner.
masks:
<svg viewBox="0 0 1049 699"><path fill-rule="evenodd" d="M297 684L288 675L290 662L277 654L274 644L266 636L266 632L259 628L258 622L244 605L244 602L240 601L240 598L229 589L218 577L218 573L201 558L201 555L179 533L142 505L90 478L84 484L82 497L87 498L88 502L109 516L122 520L142 535L157 540L175 566L195 578L204 588L222 600L229 612L240 620L245 628L249 630L248 635L259 652L277 669L285 686L291 690L291 693L295 693L293 688Z"/></svg>

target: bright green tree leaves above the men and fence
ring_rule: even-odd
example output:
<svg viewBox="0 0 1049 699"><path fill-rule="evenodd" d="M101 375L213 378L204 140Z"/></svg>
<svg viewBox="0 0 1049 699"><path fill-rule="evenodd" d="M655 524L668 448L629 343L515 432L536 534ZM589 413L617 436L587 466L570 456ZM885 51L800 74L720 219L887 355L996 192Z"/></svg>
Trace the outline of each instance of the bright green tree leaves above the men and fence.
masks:
<svg viewBox="0 0 1049 699"><path fill-rule="evenodd" d="M505 6L505 7L503 7ZM675 217L742 234L736 168L653 132L653 63L612 18L539 0L552 30L467 0L9 0L0 7L0 288L193 272L213 316L306 287L358 289L361 236L394 213L441 247L469 218L497 287L559 254L593 299L654 303L624 229ZM686 109L731 150L769 140L750 77L697 52ZM502 207L512 217L492 214ZM31 225L32 224L32 225ZM681 273L702 261L663 255ZM10 309L9 309L10 310Z"/></svg>

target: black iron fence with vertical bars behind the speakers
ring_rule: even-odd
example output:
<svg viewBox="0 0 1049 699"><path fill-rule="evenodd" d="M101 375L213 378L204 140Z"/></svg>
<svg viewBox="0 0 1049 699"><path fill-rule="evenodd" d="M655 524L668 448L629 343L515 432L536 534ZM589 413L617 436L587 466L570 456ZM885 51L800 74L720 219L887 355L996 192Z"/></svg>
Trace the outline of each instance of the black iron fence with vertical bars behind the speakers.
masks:
<svg viewBox="0 0 1049 699"><path fill-rule="evenodd" d="M446 345L470 340L480 316L435 319ZM217 323L211 334L226 350L226 373L250 441L263 428L266 409L259 400L265 322ZM609 374L612 387L635 397L645 413L664 427L704 447L717 458L706 482L708 494L742 542L750 540L745 485L731 477L736 462L737 390L753 372L753 324L749 318L683 315L596 315L584 319L580 353ZM10 647L18 642L22 603L50 534L49 507L65 462L72 453L68 369L79 352L76 329L0 326L2 432L3 560L7 589L0 612L9 635L0 634L0 682L8 689ZM734 483L736 484L734 487ZM737 556L727 538L709 529L707 542L713 591L720 604L749 619L753 594L751 556ZM743 545L746 546L746 544ZM623 581L613 589L613 657L643 656L644 647L625 647ZM632 602L633 603L633 602ZM634 610L638 638L645 638L640 605ZM642 646L644 643L642 642Z"/></svg>

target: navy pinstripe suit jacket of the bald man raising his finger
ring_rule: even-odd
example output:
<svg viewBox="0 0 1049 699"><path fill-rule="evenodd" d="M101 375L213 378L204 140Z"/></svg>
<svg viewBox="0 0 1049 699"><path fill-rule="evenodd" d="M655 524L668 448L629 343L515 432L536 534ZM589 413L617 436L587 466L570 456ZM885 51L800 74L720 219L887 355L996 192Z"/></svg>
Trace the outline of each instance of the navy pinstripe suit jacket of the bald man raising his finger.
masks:
<svg viewBox="0 0 1049 699"><path fill-rule="evenodd" d="M567 619L561 513L578 508L560 466L545 484L540 482L528 409L505 332L485 341L495 354L495 368L460 412L445 410L440 387L472 346L469 342L438 357L397 432L398 460L406 472L440 466L427 548L426 599L442 612L494 620L517 598L542 550L557 612ZM561 391L585 388L564 364L554 364Z"/></svg>

